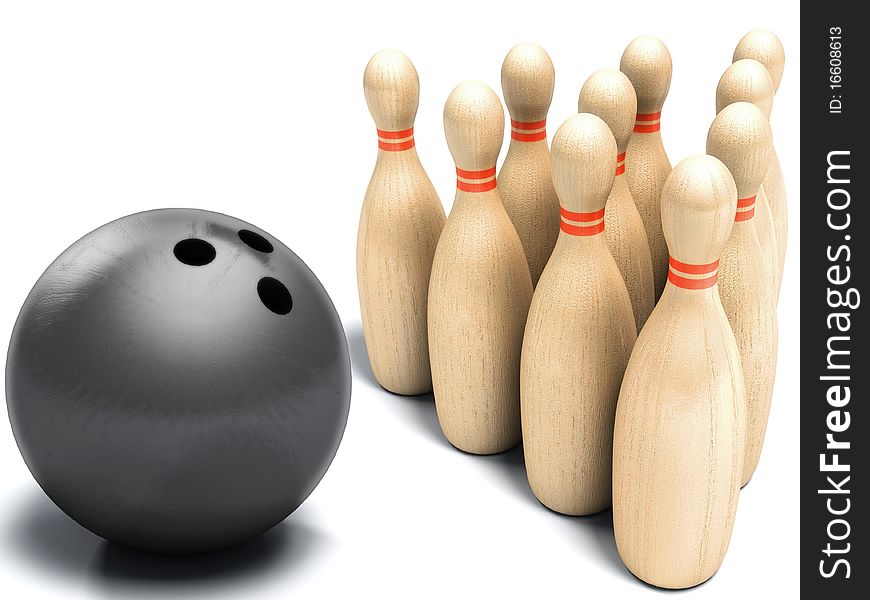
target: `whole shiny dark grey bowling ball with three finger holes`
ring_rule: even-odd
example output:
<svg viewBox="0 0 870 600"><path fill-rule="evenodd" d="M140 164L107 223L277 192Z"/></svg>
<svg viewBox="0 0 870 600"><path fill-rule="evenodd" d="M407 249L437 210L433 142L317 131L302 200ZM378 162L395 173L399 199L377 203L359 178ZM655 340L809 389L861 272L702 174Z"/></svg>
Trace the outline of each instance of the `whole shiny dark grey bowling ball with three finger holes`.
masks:
<svg viewBox="0 0 870 600"><path fill-rule="evenodd" d="M45 493L119 544L193 553L280 523L341 442L338 314L268 233L191 209L130 215L43 273L9 346L16 442Z"/></svg>

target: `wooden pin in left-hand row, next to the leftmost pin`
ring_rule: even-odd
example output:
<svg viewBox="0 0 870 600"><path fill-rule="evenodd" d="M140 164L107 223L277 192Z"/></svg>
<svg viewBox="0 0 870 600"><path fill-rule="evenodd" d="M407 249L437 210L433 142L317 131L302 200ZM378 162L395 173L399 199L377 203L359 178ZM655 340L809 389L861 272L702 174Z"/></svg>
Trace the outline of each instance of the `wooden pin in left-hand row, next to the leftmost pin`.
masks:
<svg viewBox="0 0 870 600"><path fill-rule="evenodd" d="M501 101L458 85L444 106L456 197L429 284L429 354L438 421L451 444L492 454L520 441L520 352L532 278L496 187Z"/></svg>

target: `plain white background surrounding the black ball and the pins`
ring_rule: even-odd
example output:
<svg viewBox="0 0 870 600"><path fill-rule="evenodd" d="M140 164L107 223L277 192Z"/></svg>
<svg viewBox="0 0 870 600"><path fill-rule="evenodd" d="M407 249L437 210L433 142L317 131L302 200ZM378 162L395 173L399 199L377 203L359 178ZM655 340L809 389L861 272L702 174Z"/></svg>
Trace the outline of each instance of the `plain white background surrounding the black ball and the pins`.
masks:
<svg viewBox="0 0 870 600"><path fill-rule="evenodd" d="M348 3L351 4L351 3ZM501 93L502 59L541 43L556 66L549 134L586 77L625 45L665 40L671 161L703 152L715 88L740 37L776 31L787 62L773 130L789 192L779 375L761 464L719 573L687 595L798 595L800 108L798 8L738 2L4 2L0 9L0 345L46 266L95 227L190 206L250 221L314 270L354 363L347 432L308 501L262 538L165 559L109 545L42 494L0 423L0 584L6 598L586 597L661 594L622 566L610 513L568 518L531 495L517 449L473 457L441 436L431 397L393 396L365 357L355 275L376 157L363 69L382 47L415 62L417 148L445 207L441 111L454 85ZM428 8L427 8L428 6ZM502 152L502 158L504 151Z"/></svg>

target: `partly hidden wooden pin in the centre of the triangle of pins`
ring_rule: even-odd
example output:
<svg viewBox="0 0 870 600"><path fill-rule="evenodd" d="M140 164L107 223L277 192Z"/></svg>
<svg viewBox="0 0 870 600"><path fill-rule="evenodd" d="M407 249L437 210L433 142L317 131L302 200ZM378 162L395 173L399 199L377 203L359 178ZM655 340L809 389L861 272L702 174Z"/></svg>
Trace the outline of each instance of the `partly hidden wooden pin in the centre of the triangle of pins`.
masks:
<svg viewBox="0 0 870 600"><path fill-rule="evenodd" d="M640 331L655 305L655 284L646 230L625 175L625 151L637 113L634 86L621 71L598 70L583 84L578 109L601 117L616 138L616 179L604 212L604 237L625 281Z"/></svg>

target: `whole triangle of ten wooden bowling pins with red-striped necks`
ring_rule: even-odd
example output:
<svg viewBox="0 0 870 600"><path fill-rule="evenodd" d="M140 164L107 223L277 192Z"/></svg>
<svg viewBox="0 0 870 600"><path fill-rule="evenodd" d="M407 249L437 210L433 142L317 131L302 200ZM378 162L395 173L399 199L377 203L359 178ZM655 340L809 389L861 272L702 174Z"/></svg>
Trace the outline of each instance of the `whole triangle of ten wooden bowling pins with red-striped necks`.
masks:
<svg viewBox="0 0 870 600"><path fill-rule="evenodd" d="M776 369L786 244L768 123L784 52L740 41L716 90L707 154L671 169L662 107L671 56L643 36L583 84L547 147L555 71L537 44L444 106L456 164L449 217L414 149L417 72L366 67L378 160L357 275L380 384L434 391L457 448L522 441L529 484L560 513L613 506L626 566L667 588L718 569L758 464Z"/></svg>

